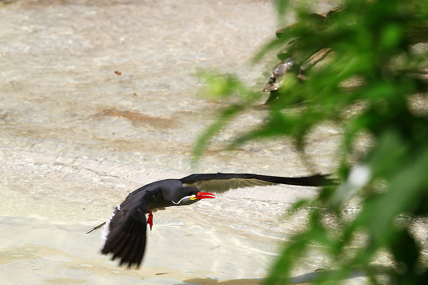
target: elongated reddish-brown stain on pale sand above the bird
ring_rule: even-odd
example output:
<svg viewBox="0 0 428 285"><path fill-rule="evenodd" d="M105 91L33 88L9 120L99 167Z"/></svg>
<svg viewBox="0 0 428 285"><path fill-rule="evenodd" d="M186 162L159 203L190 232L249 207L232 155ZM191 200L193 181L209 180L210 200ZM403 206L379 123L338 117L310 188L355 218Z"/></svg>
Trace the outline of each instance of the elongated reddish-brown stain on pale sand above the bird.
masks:
<svg viewBox="0 0 428 285"><path fill-rule="evenodd" d="M149 117L141 113L131 112L131 111L120 111L116 109L104 109L99 116L116 116L128 119L133 126L154 126L157 128L171 128L176 126L176 120L169 118L159 118L159 117Z"/></svg>

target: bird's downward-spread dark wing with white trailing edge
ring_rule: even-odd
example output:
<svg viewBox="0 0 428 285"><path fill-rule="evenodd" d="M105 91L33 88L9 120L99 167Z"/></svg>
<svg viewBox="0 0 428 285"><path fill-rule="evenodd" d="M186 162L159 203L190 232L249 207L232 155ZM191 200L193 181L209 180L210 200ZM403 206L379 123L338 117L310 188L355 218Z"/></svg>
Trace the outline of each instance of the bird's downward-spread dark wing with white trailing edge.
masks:
<svg viewBox="0 0 428 285"><path fill-rule="evenodd" d="M159 191L160 188L146 188L114 209L101 230L101 253L113 253L112 260L120 257L120 265L140 266L146 247L147 203Z"/></svg>

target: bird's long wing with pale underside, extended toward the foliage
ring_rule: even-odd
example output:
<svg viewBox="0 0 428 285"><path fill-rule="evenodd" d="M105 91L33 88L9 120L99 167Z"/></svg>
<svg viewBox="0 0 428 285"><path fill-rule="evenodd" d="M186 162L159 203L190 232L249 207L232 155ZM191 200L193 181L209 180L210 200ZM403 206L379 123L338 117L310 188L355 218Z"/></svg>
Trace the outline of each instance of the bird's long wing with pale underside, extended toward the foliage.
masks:
<svg viewBox="0 0 428 285"><path fill-rule="evenodd" d="M193 186L199 191L212 191L222 193L230 189L254 187L258 185L300 185L325 186L334 184L327 175L313 175L306 177L279 177L251 173L203 173L192 174L180 180L184 186Z"/></svg>

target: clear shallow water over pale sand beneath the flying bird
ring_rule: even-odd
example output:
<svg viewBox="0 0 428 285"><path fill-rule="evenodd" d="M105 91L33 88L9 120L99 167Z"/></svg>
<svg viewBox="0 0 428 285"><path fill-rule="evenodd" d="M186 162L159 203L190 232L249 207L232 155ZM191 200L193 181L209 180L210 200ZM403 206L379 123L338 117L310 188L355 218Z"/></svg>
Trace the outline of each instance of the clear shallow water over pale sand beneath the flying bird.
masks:
<svg viewBox="0 0 428 285"><path fill-rule="evenodd" d="M219 68L261 88L264 67L247 62L274 35L270 3L18 1L0 4L0 26L0 284L259 283L304 222L303 212L284 220L284 210L316 189L239 189L158 211L139 270L117 267L100 255L100 233L85 232L159 179L334 168L331 127L312 137L312 168L282 139L222 151L261 110L237 118L189 167L194 139L222 104L195 96L193 72ZM302 264L296 276L327 259Z"/></svg>

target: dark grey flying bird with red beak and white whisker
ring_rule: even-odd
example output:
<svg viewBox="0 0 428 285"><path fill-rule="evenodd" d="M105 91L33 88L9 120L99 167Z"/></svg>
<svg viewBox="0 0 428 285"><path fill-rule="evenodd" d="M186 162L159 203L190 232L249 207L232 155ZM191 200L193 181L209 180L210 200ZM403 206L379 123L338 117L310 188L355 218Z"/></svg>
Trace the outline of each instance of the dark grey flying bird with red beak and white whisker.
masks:
<svg viewBox="0 0 428 285"><path fill-rule="evenodd" d="M249 173L192 174L181 179L160 180L130 193L113 210L107 222L87 233L104 226L101 253L113 253L112 260L120 257L120 265L128 263L128 266L136 264L139 267L146 246L146 224L152 229L152 210L215 198L214 194L201 191L222 193L229 189L276 184L324 186L333 184L333 181L324 175L290 178ZM149 214L147 220L146 214Z"/></svg>

